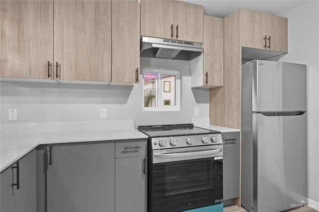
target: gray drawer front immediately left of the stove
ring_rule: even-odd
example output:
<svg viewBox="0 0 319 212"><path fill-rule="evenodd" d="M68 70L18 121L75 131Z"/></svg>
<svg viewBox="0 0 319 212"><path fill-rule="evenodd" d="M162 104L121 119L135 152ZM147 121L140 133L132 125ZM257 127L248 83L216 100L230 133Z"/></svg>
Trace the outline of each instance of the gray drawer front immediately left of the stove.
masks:
<svg viewBox="0 0 319 212"><path fill-rule="evenodd" d="M115 141L115 158L147 155L147 139Z"/></svg>

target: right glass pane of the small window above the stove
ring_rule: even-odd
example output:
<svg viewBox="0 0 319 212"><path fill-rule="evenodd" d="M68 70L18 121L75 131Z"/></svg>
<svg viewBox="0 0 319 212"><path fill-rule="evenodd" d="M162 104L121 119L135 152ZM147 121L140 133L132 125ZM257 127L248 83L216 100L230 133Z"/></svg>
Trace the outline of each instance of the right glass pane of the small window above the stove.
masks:
<svg viewBox="0 0 319 212"><path fill-rule="evenodd" d="M175 75L162 75L162 105L175 105Z"/></svg>

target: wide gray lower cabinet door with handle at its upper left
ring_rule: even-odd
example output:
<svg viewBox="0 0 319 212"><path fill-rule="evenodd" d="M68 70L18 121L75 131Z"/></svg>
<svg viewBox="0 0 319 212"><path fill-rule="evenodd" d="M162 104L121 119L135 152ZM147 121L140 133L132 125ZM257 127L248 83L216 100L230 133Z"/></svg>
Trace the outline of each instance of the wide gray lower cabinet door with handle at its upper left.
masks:
<svg viewBox="0 0 319 212"><path fill-rule="evenodd" d="M47 212L114 212L114 141L47 152Z"/></svg>

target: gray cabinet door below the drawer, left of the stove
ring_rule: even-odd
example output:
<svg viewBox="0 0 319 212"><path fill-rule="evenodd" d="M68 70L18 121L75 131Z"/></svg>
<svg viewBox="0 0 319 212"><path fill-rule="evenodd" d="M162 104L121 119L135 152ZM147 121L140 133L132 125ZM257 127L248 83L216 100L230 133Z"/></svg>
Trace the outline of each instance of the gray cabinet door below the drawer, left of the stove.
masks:
<svg viewBox="0 0 319 212"><path fill-rule="evenodd" d="M147 158L115 159L115 212L147 211Z"/></svg>

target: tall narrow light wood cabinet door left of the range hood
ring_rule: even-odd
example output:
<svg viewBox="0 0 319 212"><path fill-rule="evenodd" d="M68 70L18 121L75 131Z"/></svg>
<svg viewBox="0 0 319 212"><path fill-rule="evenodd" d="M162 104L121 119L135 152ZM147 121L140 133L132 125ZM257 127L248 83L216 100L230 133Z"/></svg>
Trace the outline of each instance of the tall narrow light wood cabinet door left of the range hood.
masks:
<svg viewBox="0 0 319 212"><path fill-rule="evenodd" d="M112 0L112 82L138 83L140 3Z"/></svg>

